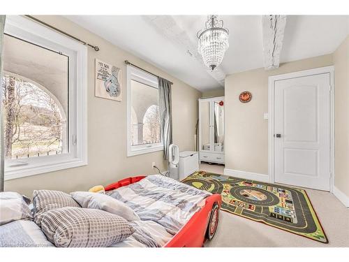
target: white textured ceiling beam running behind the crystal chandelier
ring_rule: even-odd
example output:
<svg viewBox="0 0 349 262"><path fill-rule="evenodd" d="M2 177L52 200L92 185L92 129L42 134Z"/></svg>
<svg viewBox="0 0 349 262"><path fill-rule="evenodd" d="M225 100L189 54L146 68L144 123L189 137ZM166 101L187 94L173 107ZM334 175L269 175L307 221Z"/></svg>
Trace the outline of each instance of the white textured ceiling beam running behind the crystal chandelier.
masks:
<svg viewBox="0 0 349 262"><path fill-rule="evenodd" d="M179 27L176 20L174 20L171 15L144 15L143 17L144 20L151 24L160 34L168 38L172 43L177 43L184 53L198 61L203 69L218 82L218 85L224 87L224 71L221 70L221 68L216 68L214 71L211 71L205 66L198 52L198 43L193 43L193 41L191 41L186 31Z"/></svg>

